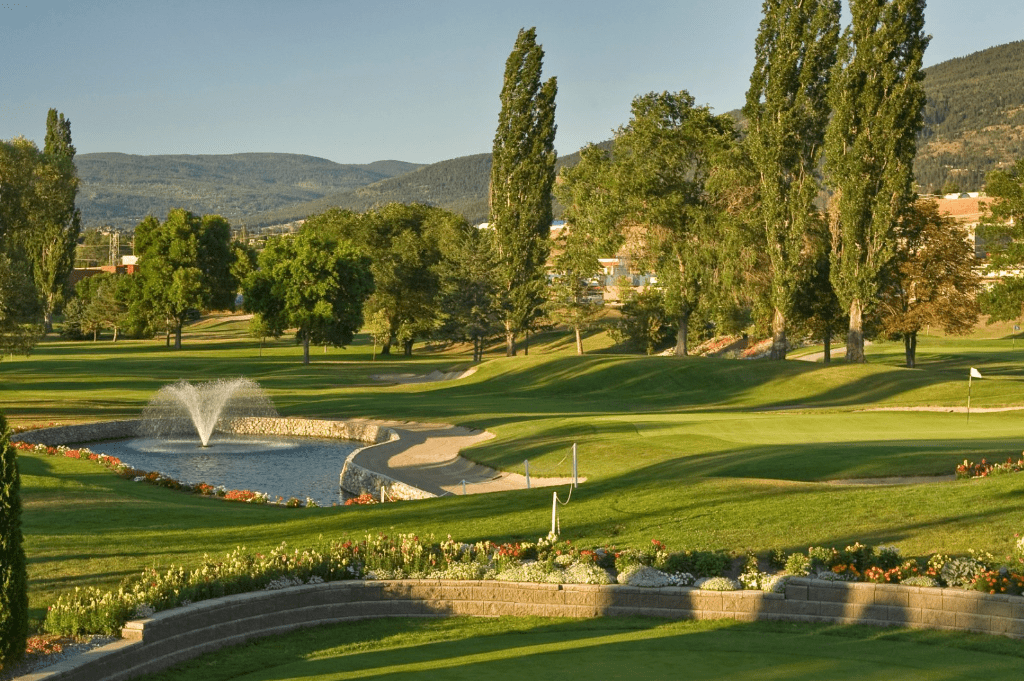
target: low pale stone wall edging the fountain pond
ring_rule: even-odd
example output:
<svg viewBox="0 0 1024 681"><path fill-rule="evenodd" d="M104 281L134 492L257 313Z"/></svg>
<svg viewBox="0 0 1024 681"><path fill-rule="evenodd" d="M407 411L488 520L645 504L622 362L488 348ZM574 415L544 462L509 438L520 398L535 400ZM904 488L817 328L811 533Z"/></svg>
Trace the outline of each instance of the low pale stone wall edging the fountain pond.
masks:
<svg viewBox="0 0 1024 681"><path fill-rule="evenodd" d="M74 426L54 426L18 433L17 439L29 444L76 444L106 439L138 436L139 421L104 421ZM348 455L339 473L339 485L352 495L371 494L379 497L383 488L390 499L430 499L429 492L395 480L387 475L364 468L355 462L361 452L372 446L398 439L398 433L373 423L360 421L328 421L323 419L232 419L217 424L218 432L248 435L290 435L294 437L330 437L367 442Z"/></svg>

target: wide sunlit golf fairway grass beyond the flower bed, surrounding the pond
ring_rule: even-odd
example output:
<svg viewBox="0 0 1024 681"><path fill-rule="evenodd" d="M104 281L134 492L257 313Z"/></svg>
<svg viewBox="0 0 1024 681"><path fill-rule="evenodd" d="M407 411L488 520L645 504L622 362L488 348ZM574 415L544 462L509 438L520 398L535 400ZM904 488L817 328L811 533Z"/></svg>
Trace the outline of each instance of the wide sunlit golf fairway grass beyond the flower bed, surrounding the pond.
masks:
<svg viewBox="0 0 1024 681"><path fill-rule="evenodd" d="M725 549L896 544L906 554L1008 552L1024 517L1024 475L893 486L840 478L950 474L965 458L1022 449L1019 412L867 412L966 401L1024 405L1024 343L982 328L967 339L925 336L921 369L902 345L874 344L870 364L824 367L623 354L606 336L578 357L568 335L536 338L528 356L490 355L458 382L386 386L371 376L466 367L466 353L429 350L371 361L365 337L300 364L290 340L258 342L230 317L162 341L47 340L0 364L0 409L15 425L136 417L164 384L244 375L287 416L375 417L487 428L464 454L534 475L565 475L578 442L587 482L559 511L562 535L587 545ZM358 509L287 510L229 504L121 480L86 462L19 458L31 600L38 623L75 586L115 586L142 567L196 565L237 546L311 544L368 531L449 534L463 541L536 540L550 528L551 490L455 497ZM561 490L564 499L567 490Z"/></svg>

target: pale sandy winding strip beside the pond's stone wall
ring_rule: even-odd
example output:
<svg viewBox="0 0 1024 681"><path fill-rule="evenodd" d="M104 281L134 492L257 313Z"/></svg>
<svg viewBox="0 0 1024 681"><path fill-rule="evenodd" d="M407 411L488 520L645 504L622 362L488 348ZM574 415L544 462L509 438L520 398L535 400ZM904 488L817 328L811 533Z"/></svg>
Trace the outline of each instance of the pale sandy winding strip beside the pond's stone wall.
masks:
<svg viewBox="0 0 1024 681"><path fill-rule="evenodd" d="M407 484L438 496L476 495L506 490L525 490L526 477L475 464L459 452L494 437L494 433L439 423L367 421L398 433L398 440L369 448L356 455L355 463ZM580 478L582 482L586 478ZM569 484L567 477L530 476L530 486Z"/></svg>

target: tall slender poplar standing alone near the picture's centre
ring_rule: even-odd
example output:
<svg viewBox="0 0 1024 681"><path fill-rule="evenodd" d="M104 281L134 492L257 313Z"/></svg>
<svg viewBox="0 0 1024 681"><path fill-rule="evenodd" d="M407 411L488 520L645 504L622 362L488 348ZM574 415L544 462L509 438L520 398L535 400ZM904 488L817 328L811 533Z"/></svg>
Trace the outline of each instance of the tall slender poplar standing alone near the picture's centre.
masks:
<svg viewBox="0 0 1024 681"><path fill-rule="evenodd" d="M541 82L543 60L536 29L520 30L505 65L492 157L490 228L510 356L545 299L558 86L554 78Z"/></svg>

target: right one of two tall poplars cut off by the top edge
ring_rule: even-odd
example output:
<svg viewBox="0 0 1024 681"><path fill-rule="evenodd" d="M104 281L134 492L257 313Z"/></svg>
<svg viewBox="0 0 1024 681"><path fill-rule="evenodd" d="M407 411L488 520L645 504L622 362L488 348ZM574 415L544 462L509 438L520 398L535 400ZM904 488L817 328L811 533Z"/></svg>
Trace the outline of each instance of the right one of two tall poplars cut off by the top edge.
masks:
<svg viewBox="0 0 1024 681"><path fill-rule="evenodd" d="M863 315L896 252L896 227L914 201L923 125L925 0L850 0L829 87L825 173L834 190L830 278L850 311L846 358L864 361Z"/></svg>

